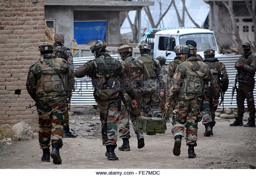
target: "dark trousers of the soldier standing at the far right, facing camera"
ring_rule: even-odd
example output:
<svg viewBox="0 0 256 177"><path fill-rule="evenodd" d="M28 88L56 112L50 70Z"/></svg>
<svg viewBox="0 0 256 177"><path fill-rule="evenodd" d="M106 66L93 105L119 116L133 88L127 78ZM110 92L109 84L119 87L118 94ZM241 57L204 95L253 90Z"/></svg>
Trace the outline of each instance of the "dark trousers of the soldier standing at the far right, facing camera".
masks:
<svg viewBox="0 0 256 177"><path fill-rule="evenodd" d="M253 96L254 85L249 83L238 83L238 92L236 94L236 104L237 104L237 117L243 118L244 116L244 100L247 100L247 106L249 110L250 118L255 118L255 105Z"/></svg>

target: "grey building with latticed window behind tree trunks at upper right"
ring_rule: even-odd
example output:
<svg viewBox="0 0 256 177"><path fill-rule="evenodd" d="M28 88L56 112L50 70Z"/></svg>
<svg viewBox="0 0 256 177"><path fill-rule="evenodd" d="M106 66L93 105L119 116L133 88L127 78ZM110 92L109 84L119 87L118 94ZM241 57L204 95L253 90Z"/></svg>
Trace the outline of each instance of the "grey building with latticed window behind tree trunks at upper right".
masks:
<svg viewBox="0 0 256 177"><path fill-rule="evenodd" d="M204 0L204 2L210 4L209 29L216 31L219 45L222 48L234 47L230 15L222 0ZM240 39L254 41L254 24L245 2L233 0L233 11Z"/></svg>

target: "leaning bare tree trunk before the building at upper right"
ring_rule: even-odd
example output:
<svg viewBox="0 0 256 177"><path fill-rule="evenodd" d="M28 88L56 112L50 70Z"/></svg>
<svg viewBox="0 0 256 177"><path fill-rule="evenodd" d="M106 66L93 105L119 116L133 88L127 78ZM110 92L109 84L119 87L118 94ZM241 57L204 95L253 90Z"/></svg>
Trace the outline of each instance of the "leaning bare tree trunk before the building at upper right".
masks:
<svg viewBox="0 0 256 177"><path fill-rule="evenodd" d="M234 31L234 37L235 37L235 41L236 41L236 44L237 44L238 51L239 51L239 53L242 53L242 48L240 47L242 45L242 40L240 39L238 29L237 29L237 25L236 25L236 20L235 20L234 11L233 11L233 1L228 0L228 4L227 4L225 2L225 0L222 0L222 3L224 4L224 6L228 10L230 20L231 20L231 24L232 24L232 30Z"/></svg>

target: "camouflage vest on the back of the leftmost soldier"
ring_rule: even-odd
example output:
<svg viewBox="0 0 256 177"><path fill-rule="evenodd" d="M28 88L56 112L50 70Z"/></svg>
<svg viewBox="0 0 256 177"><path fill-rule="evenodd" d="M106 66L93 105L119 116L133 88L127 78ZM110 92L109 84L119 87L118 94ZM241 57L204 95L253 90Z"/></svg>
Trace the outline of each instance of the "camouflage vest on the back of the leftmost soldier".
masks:
<svg viewBox="0 0 256 177"><path fill-rule="evenodd" d="M56 58L54 63L50 63L47 60L44 60L42 63L39 61L41 76L37 86L38 93L41 92L44 95L44 93L58 94L65 92L67 78L62 73L62 62L60 58Z"/></svg>

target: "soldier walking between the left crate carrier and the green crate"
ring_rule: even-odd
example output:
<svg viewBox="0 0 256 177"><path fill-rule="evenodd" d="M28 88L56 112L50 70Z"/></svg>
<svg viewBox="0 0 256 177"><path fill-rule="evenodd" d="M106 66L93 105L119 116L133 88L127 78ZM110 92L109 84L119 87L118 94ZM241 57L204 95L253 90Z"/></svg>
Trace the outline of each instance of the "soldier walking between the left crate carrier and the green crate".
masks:
<svg viewBox="0 0 256 177"><path fill-rule="evenodd" d="M143 89L143 81L147 81L149 79L148 70L144 66L143 62L138 58L135 59L132 57L132 47L129 45L122 45L117 49L118 53L121 56L122 67L129 79L130 87L133 89L134 94L136 95L136 102L138 103L138 109L133 108L131 105L131 98L127 93L124 93L125 102L124 106L122 106L122 111L119 119L119 133L120 138L123 140L122 146L118 148L120 151L130 151L129 138L130 136L130 120L132 122L132 127L134 129L135 134L137 135L138 140L138 148L144 147L144 137L142 132L137 132L136 128L136 120L137 117L140 116L140 104L142 100L142 89ZM130 119L129 119L130 115Z"/></svg>

